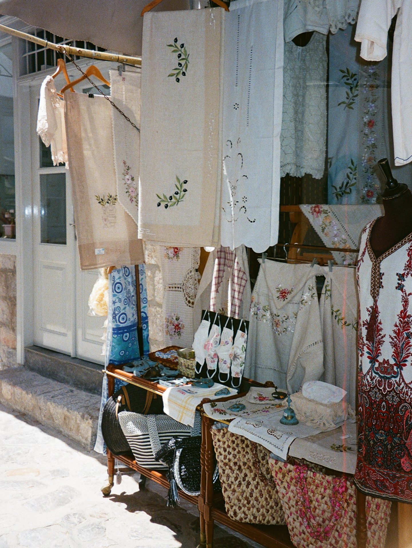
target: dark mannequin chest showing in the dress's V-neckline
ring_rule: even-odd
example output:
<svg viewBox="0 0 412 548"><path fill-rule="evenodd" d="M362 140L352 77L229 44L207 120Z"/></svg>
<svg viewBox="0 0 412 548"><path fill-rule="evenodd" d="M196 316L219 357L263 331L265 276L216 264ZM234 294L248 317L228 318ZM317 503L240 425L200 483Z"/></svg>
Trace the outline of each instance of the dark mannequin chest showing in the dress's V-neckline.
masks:
<svg viewBox="0 0 412 548"><path fill-rule="evenodd" d="M370 247L379 258L412 232L412 193L382 199L385 215L376 220L370 233Z"/></svg>

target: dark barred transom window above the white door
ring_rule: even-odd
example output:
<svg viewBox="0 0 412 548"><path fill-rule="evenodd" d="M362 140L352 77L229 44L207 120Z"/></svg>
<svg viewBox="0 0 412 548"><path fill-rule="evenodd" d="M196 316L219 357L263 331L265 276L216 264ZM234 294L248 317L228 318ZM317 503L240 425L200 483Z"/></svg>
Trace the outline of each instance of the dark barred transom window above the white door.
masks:
<svg viewBox="0 0 412 548"><path fill-rule="evenodd" d="M54 44L68 44L77 48L94 49L99 52L105 51L104 48L99 48L91 42L86 42L84 40L69 40L67 38L62 38L61 36L55 35L53 32L45 31L42 28L36 28L31 34ZM43 48L41 45L29 42L28 40L24 41L24 43L25 45L22 53L20 76L33 74L35 72L45 70L46 68L55 67L57 60L64 58L64 54L56 52L53 49ZM73 58L75 60L80 59L77 55L73 56Z"/></svg>

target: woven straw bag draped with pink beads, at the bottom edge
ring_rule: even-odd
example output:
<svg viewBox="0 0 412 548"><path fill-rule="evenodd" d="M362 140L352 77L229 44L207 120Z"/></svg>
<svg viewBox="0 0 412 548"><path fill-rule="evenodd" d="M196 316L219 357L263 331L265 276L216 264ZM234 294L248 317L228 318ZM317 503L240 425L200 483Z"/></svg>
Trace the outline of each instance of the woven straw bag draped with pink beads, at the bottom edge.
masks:
<svg viewBox="0 0 412 548"><path fill-rule="evenodd" d="M356 548L352 479L269 458L290 539L296 548ZM391 503L367 497L368 548L383 548Z"/></svg>

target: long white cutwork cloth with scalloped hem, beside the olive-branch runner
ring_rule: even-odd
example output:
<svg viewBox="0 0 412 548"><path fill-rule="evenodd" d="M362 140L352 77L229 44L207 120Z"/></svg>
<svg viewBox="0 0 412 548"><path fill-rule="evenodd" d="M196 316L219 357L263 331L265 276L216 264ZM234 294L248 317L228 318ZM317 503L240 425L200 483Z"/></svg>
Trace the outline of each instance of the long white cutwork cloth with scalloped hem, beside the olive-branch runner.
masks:
<svg viewBox="0 0 412 548"><path fill-rule="evenodd" d="M237 0L225 14L221 244L278 241L283 3Z"/></svg>

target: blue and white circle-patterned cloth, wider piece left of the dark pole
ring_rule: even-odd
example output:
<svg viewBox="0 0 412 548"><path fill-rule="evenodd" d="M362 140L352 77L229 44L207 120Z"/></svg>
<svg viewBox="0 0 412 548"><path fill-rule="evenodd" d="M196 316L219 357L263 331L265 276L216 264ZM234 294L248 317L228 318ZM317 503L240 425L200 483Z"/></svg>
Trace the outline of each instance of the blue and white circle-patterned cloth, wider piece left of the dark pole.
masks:
<svg viewBox="0 0 412 548"><path fill-rule="evenodd" d="M140 358L134 266L113 270L109 288L106 366Z"/></svg>

